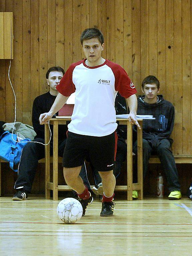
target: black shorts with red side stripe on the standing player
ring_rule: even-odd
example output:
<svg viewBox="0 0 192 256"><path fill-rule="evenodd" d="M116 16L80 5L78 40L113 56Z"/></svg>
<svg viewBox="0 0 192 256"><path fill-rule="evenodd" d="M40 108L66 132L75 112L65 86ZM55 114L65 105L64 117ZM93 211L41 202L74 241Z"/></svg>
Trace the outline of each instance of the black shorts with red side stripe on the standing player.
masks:
<svg viewBox="0 0 192 256"><path fill-rule="evenodd" d="M117 134L96 137L68 132L63 153L63 167L81 166L89 158L95 170L111 171L117 150Z"/></svg>

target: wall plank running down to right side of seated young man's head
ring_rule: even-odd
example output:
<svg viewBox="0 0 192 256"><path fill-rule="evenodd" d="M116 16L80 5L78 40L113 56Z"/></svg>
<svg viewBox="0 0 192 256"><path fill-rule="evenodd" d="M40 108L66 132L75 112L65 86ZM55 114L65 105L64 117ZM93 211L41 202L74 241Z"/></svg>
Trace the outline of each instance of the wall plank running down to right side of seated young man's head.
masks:
<svg viewBox="0 0 192 256"><path fill-rule="evenodd" d="M166 8L165 0L157 1L157 78L160 94L166 95Z"/></svg>

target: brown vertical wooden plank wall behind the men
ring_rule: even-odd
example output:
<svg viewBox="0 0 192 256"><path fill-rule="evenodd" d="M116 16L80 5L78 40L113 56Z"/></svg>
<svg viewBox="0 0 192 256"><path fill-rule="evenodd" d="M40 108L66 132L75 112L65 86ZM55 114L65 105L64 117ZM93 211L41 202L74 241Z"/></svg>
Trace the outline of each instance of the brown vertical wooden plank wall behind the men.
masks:
<svg viewBox="0 0 192 256"><path fill-rule="evenodd" d="M56 27L60 25L58 21L56 26L56 8L58 17L61 18L59 12L63 13L63 7L61 9L59 5L56 7L57 3L61 6L64 3L64 25L62 25L64 26L64 57L60 50L61 45L58 44L62 36L56 32ZM149 11L147 11L148 6ZM148 75L149 68L157 70L161 86L160 93L175 105L174 153L191 154L192 5L190 0L3 0L0 2L0 11L14 14L14 50L16 52L14 60L11 61L10 77L17 96L17 120L25 123L31 122L30 105L36 96L48 89L45 83L45 73L48 67L56 64L56 54L58 60L64 58L65 70L72 62L81 59L79 38L82 29L89 24L89 27L98 26L104 34L106 47L103 57L106 56L114 62L115 60L123 61L123 64L119 64L125 68L137 89L138 85L140 87L141 80ZM154 22L156 22L157 31L153 26ZM123 27L123 55L120 60L118 60L120 55L117 51L120 37L116 31L119 26ZM45 36L46 30L48 38ZM155 33L157 45L147 40L148 37L153 40ZM47 40L45 47L42 38ZM150 48L148 43L150 43ZM152 55L147 55L150 49L155 49L156 53L150 51ZM156 60L152 60L157 66L150 64L153 54L157 54ZM132 58L132 64L130 58ZM4 79L1 83L3 82L5 92L1 91L0 100L5 101L3 97L6 97L6 106L5 109L1 109L1 112L4 113L3 117L6 118L6 122L12 122L14 120L14 95L7 75L9 60L0 64L1 70L5 72L4 75L1 74ZM39 71L43 65L47 66ZM44 83L44 87L42 84L39 85L40 80ZM40 91L39 86L42 87ZM30 96L26 98L25 96L29 94Z"/></svg>

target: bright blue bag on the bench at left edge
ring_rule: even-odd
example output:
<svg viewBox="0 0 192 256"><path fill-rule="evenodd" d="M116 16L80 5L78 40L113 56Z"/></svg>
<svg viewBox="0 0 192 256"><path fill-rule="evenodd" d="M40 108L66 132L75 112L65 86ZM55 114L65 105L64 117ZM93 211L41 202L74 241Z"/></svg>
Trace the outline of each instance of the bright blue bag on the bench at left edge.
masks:
<svg viewBox="0 0 192 256"><path fill-rule="evenodd" d="M13 139L17 140L16 134L13 134ZM14 172L17 172L17 169L14 169L14 166L19 163L22 149L30 139L22 140L22 142L26 143L15 142L14 140L12 140L12 134L8 131L0 136L0 158L9 162L10 168Z"/></svg>

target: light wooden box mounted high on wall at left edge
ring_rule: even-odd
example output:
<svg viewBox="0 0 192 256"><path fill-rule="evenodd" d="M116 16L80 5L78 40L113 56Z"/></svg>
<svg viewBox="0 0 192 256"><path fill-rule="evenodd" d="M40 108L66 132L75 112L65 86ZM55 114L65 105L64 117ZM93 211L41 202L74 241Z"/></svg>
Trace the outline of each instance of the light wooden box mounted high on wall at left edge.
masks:
<svg viewBox="0 0 192 256"><path fill-rule="evenodd" d="M0 12L0 59L13 59L12 12Z"/></svg>

